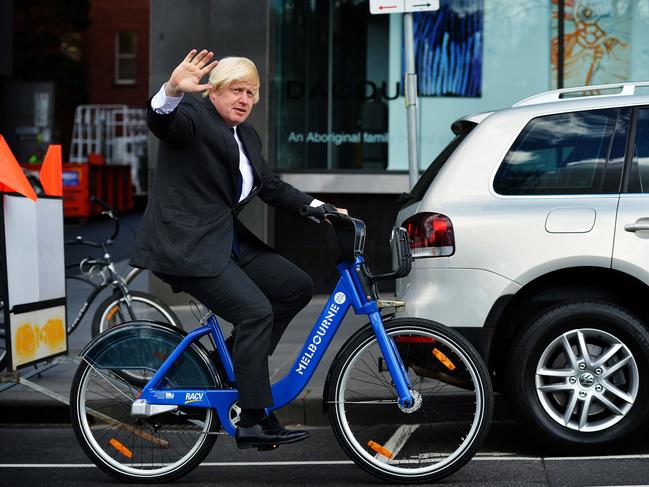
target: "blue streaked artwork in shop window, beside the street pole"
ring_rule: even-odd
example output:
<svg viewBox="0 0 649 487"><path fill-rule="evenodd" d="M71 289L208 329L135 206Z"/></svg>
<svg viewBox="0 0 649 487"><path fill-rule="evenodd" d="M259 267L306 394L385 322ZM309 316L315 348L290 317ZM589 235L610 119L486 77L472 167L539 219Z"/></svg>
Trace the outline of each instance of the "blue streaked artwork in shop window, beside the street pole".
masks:
<svg viewBox="0 0 649 487"><path fill-rule="evenodd" d="M483 12L483 0L450 0L413 14L419 96L482 96Z"/></svg>

